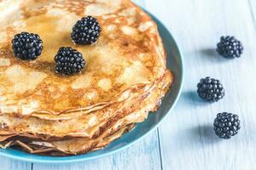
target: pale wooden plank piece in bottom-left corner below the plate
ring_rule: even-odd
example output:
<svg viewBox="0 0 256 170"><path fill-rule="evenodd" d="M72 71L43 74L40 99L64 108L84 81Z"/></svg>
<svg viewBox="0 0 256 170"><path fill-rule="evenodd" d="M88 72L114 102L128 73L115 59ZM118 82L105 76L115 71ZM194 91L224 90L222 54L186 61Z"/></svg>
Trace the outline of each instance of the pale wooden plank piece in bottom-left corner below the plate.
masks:
<svg viewBox="0 0 256 170"><path fill-rule="evenodd" d="M15 161L9 158L0 156L0 169L1 170L31 170L32 164L23 161Z"/></svg>

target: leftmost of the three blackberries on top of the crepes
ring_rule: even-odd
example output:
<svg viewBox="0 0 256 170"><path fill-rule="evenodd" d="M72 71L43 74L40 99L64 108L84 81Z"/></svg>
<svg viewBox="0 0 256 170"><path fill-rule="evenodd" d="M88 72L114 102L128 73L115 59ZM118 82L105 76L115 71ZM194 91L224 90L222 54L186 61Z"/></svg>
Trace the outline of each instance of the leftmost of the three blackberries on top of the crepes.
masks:
<svg viewBox="0 0 256 170"><path fill-rule="evenodd" d="M20 59L33 60L41 55L43 41L38 34L20 32L12 40L12 48L16 57Z"/></svg>

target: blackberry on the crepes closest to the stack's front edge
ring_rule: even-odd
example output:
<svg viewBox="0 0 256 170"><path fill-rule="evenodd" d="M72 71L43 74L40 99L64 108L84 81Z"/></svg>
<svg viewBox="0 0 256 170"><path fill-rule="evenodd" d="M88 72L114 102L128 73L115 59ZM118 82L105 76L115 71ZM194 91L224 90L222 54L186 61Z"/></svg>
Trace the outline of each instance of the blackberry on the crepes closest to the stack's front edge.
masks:
<svg viewBox="0 0 256 170"><path fill-rule="evenodd" d="M73 48L60 48L55 55L55 72L64 75L73 75L84 69L83 55Z"/></svg>

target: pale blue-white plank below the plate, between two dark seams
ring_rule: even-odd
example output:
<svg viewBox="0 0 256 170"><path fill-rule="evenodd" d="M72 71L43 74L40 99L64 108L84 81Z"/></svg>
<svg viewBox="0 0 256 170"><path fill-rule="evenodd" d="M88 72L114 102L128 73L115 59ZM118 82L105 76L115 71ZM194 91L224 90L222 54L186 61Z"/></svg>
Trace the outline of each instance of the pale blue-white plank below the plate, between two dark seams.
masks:
<svg viewBox="0 0 256 170"><path fill-rule="evenodd" d="M34 163L33 170L159 170L160 152L157 132L150 133L145 139L112 156L94 161L84 161L67 165L44 165Z"/></svg>

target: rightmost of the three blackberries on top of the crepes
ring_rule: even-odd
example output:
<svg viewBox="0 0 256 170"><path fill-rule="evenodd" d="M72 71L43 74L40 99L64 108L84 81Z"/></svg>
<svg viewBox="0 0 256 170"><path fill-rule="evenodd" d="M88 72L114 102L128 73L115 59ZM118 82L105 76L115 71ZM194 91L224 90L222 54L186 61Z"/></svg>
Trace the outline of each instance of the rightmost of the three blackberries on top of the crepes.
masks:
<svg viewBox="0 0 256 170"><path fill-rule="evenodd" d="M77 21L73 26L71 37L77 44L89 45L97 41L101 31L102 28L98 20L88 16Z"/></svg>

